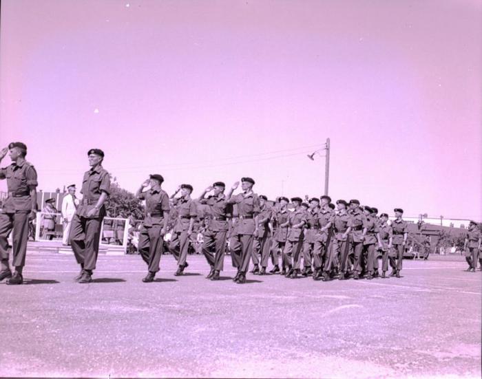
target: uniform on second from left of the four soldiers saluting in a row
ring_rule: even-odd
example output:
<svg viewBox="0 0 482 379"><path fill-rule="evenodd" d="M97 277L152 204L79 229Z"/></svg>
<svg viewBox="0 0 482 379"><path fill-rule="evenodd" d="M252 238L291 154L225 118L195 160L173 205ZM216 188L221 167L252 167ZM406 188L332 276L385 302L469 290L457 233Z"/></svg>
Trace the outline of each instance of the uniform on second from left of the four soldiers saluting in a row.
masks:
<svg viewBox="0 0 482 379"><path fill-rule="evenodd" d="M178 210L178 218L172 230L171 241L169 243L169 251L176 261L178 268L183 270L187 266L187 250L189 249L189 225L191 218L198 216L196 204L191 198L178 197L174 200L174 206ZM192 230L191 230L192 232Z"/></svg>

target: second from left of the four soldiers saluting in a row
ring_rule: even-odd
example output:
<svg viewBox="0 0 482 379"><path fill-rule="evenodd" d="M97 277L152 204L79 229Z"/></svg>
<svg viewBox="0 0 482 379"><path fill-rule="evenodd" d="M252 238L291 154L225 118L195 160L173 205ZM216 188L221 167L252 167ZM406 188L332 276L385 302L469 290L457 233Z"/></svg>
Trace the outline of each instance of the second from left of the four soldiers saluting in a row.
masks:
<svg viewBox="0 0 482 379"><path fill-rule="evenodd" d="M180 197L174 197L178 192ZM174 195L171 196L173 204L178 210L178 218L172 230L171 241L169 242L169 251L176 261L178 261L178 270L174 275L180 277L184 274L185 268L189 266L187 263L187 250L189 249L189 237L193 232L194 219L198 216L198 208L191 199L193 186L191 184L181 184Z"/></svg>

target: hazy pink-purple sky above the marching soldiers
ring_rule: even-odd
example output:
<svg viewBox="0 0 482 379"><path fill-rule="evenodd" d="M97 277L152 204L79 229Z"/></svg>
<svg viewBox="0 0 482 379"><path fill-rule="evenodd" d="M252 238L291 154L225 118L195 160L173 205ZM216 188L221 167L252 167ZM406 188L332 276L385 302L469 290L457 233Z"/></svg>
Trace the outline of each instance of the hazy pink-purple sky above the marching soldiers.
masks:
<svg viewBox="0 0 482 379"><path fill-rule="evenodd" d="M322 193L324 160L306 153L330 137L334 198L480 220L481 13L479 1L3 0L0 143L28 144L44 191L80 184L99 147L130 191L149 173L195 195L249 175L273 198Z"/></svg>

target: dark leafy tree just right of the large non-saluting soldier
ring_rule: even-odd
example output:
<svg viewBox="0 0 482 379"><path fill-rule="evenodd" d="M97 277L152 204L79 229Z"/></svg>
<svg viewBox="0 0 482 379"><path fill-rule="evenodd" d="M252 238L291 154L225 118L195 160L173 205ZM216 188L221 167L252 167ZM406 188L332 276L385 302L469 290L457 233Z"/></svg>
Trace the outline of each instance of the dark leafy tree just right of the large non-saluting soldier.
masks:
<svg viewBox="0 0 482 379"><path fill-rule="evenodd" d="M127 219L144 219L144 206L139 199L124 188L119 186L116 178L112 178L110 184L110 196L105 204L108 217L121 217Z"/></svg>

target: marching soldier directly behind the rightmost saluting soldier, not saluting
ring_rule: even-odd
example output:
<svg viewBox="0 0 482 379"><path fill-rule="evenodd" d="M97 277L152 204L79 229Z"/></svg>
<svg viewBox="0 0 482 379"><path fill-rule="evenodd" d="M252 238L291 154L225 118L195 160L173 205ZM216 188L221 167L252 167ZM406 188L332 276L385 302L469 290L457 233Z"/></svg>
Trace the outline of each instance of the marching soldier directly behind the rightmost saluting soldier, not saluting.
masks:
<svg viewBox="0 0 482 379"><path fill-rule="evenodd" d="M258 213L258 233L254 235L253 240L253 257L258 260L258 254L261 254L261 271L255 265L253 274L266 275L266 267L268 266L269 252L271 248L271 217L273 210L267 204L268 197L260 195L260 213Z"/></svg>

